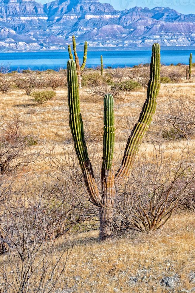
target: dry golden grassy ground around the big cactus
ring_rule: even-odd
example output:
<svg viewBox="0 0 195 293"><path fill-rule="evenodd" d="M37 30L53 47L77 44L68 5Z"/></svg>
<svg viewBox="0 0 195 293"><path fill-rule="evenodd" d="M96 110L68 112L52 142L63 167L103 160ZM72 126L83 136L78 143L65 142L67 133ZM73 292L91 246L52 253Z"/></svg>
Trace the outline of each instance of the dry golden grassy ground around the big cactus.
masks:
<svg viewBox="0 0 195 293"><path fill-rule="evenodd" d="M87 71L88 74L90 72ZM41 91L41 89L38 89L38 91ZM10 129L7 125L9 123L13 125L13 121L17 120L21 121L19 123L20 133L24 137L28 137L30 141L35 142L24 149L24 153L30 154L33 159L28 164L18 166L11 173L8 173L6 175L7 183L1 179L2 194L5 194L6 186L10 186L10 182L12 182L13 194L10 194L13 196L13 202L21 203L25 197L26 203L24 205L29 206L30 202L27 198L30 193L33 193L32 201L34 201L35 194L39 196L44 188L48 191L49 188L50 190L54 188L53 186L57 181L61 184L65 174L67 176L69 172L68 166L72 170L74 168L78 170L69 129L67 87L60 86L55 91L56 96L43 105L37 104L32 96L26 95L20 88L16 87L12 87L7 94L0 95L1 137ZM185 135L176 135L177 137L175 137L169 134L166 136L163 133L165 129L172 129L172 126L166 121L166 115L170 112L170 100L171 103L179 99L190 100L190 105L193 105L195 103L194 92L195 80L193 77L190 81L186 81L184 76L178 81L161 84L157 110L149 131L140 146L135 159L135 166L142 161L143 163L146 162L146 160L151 163L155 162L155 153L159 151L159 148L163 150L164 161L170 160L170 154L171 160L174 162L177 162L181 154L185 158L191 154L193 161L195 154L195 136L193 133L190 133L188 138ZM115 169L122 160L127 139L139 117L145 100L146 88L143 87L114 98ZM100 177L103 97L94 97L86 87L83 87L80 90L80 101L89 155L92 165L95 166L95 176ZM73 170L72 172L76 171ZM134 172L137 171L133 169L132 173ZM79 176L81 176L81 173L79 173ZM27 193L25 196L22 193L18 201L19 190L24 191L24 189L27 190ZM2 201L1 205L3 205ZM15 206L17 207L16 204ZM3 216L5 205L2 211ZM98 240L99 231L98 224L94 222L95 216L93 215L93 219L88 217L82 222L82 227L78 222L76 229L71 228L66 234L56 238L55 241L52 240L52 248L48 248L47 251L51 263L53 261L52 249L55 248L58 255L63 250L63 253L65 253L62 253L63 257L58 261L54 275L58 276L63 266L64 269L58 278L51 279L45 289L41 285L40 292L52 292L52 290L54 290L53 292L67 293L195 292L194 216L193 208L178 208L174 210L170 219L156 231L140 233L131 230L128 233L107 239L105 242L99 242ZM9 216L7 217L9 218ZM1 221L3 222L3 220ZM41 245L43 245L43 242L41 242ZM18 289L20 286L17 284L17 278L22 276L19 260L16 260L13 255L10 257L9 253L1 255L0 292L39 292L36 291L37 280L39 280L43 270L42 263L39 264L38 262L41 258L40 255L41 250L35 254L37 266L33 271L33 279L29 278L32 283L29 283L26 291L19 291L21 289ZM52 269L49 269L46 272L46 279L49 279L51 271ZM9 278L10 286L7 285L9 283L7 279ZM45 279L44 282L46 282ZM32 284L32 287L30 284Z"/></svg>

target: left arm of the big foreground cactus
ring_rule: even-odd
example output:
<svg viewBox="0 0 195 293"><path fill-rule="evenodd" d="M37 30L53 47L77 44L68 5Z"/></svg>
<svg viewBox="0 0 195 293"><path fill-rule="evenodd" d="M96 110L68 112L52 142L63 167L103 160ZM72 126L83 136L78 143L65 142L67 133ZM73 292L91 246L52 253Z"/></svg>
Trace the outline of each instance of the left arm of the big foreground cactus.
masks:
<svg viewBox="0 0 195 293"><path fill-rule="evenodd" d="M95 183L92 165L89 160L87 146L84 138L83 121L80 113L80 100L78 90L78 77L75 61L70 59L67 63L68 82L68 106L69 106L69 126L74 141L76 155L83 173L85 185L87 187L91 201L99 206L101 196Z"/></svg>

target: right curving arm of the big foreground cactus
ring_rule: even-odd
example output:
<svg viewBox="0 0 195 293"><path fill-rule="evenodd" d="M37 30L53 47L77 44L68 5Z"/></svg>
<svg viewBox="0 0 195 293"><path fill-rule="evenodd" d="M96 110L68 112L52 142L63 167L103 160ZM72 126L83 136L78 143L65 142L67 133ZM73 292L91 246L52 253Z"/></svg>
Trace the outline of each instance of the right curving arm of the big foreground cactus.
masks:
<svg viewBox="0 0 195 293"><path fill-rule="evenodd" d="M152 46L150 65L150 80L147 89L147 98L140 113L139 120L129 136L123 160L115 175L115 187L118 189L129 179L131 167L143 135L149 128L152 117L157 106L157 96L160 90L160 45L155 43Z"/></svg>

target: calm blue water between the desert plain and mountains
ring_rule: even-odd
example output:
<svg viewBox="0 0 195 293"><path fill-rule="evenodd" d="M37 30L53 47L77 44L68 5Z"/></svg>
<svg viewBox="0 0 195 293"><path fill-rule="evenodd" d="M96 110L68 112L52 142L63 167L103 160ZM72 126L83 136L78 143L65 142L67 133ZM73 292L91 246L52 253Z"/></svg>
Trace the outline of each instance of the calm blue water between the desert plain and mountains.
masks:
<svg viewBox="0 0 195 293"><path fill-rule="evenodd" d="M195 54L195 50L165 50L161 51L161 62L169 65L171 63L189 63L189 54ZM104 66L133 66L139 63L149 63L151 51L89 51L87 54L87 66L100 65L100 55L103 55ZM80 61L83 52L78 52ZM27 69L46 70L66 68L69 55L63 51L45 51L34 53L0 53L0 64L10 65L12 70ZM194 60L195 61L195 60Z"/></svg>

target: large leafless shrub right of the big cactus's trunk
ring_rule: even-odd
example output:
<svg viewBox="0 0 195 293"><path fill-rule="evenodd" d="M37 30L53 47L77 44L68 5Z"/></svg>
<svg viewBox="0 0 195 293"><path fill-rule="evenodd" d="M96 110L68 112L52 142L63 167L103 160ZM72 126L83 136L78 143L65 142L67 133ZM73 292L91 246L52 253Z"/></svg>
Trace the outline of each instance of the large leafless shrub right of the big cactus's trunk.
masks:
<svg viewBox="0 0 195 293"><path fill-rule="evenodd" d="M124 193L117 195L114 212L115 232L135 230L149 233L161 228L189 193L194 192L194 163L187 149L174 154L174 148L154 146L145 152L132 170ZM175 158L176 157L176 158Z"/></svg>

